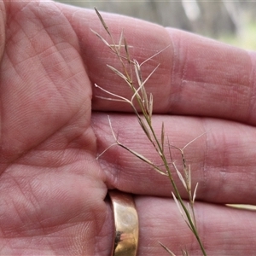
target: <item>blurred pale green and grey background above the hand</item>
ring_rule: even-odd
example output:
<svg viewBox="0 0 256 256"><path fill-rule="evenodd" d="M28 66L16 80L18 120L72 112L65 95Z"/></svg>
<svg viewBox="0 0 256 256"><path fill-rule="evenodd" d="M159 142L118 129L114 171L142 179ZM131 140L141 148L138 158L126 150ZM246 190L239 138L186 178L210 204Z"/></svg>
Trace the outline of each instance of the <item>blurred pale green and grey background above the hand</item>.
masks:
<svg viewBox="0 0 256 256"><path fill-rule="evenodd" d="M66 1L84 8L173 26L244 49L256 49L256 0Z"/></svg>

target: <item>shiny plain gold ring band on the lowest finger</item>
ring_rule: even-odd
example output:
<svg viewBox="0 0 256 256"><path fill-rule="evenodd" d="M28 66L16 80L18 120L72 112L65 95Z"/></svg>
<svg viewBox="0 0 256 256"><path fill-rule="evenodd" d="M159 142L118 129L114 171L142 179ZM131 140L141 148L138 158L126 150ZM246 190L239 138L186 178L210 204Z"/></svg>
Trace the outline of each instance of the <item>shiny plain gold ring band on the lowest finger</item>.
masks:
<svg viewBox="0 0 256 256"><path fill-rule="evenodd" d="M136 256L138 247L138 217L131 195L108 191L113 207L114 237L112 256Z"/></svg>

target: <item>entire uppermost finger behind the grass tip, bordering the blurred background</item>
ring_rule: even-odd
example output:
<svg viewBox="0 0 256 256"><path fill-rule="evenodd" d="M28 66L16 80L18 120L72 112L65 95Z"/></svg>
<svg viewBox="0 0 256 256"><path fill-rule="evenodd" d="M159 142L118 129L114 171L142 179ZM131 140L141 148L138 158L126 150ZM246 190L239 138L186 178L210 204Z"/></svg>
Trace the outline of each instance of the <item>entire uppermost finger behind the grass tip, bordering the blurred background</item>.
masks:
<svg viewBox="0 0 256 256"><path fill-rule="evenodd" d="M132 46L131 59L145 61L169 46L142 67L143 79L146 79L160 63L146 84L148 93L154 94L154 112L212 116L255 124L255 104L251 100L255 95L255 54L142 20L106 13L102 13L102 17L116 43L124 30L126 41ZM110 42L96 14L81 10L75 18L73 15L72 22L81 38L91 83L131 97L129 86L106 66L122 71L118 58L90 32L92 28ZM135 76L134 81L136 83ZM99 100L96 96L106 96L101 90L94 90L94 96L96 110L131 110L121 103Z"/></svg>

